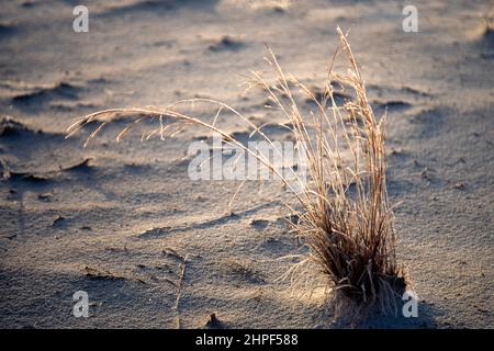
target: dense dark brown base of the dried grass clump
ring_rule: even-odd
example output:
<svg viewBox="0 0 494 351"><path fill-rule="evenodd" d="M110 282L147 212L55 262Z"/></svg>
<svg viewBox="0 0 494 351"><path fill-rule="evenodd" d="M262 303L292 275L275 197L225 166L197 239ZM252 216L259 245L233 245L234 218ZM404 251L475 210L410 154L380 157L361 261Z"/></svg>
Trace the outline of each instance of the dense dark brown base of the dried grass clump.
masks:
<svg viewBox="0 0 494 351"><path fill-rule="evenodd" d="M403 269L396 265L394 251L389 252L394 247L373 251L385 245L382 234L369 236L369 242L357 244L364 236L351 233L356 230L352 227L344 234L332 228L321 230L313 228L312 223L301 222L295 229L310 247L311 261L316 263L318 274L325 276L335 299L362 307L375 305L386 314L396 313L395 301L402 297L407 281Z"/></svg>

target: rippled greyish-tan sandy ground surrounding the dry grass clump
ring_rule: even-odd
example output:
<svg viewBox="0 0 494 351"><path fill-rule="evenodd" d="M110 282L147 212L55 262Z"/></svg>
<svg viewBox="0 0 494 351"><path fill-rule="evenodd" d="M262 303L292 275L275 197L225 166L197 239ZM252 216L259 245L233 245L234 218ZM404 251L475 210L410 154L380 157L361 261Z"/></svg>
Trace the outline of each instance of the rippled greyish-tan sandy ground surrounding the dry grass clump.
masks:
<svg viewBox="0 0 494 351"><path fill-rule="evenodd" d="M120 121L86 149L87 135L64 139L96 110L193 97L277 122L242 75L266 69L267 43L321 86L337 25L351 29L377 112L389 109L398 257L419 296L417 318L360 326L494 327L490 1L414 1L418 33L402 31L400 1L88 1L89 33L75 33L78 3L1 4L0 327L201 328L213 312L234 328L341 326L321 294L277 281L293 263L280 258L305 252L271 201L279 183L249 183L228 208L238 183L187 177L205 131L116 144ZM89 318L72 316L76 291Z"/></svg>

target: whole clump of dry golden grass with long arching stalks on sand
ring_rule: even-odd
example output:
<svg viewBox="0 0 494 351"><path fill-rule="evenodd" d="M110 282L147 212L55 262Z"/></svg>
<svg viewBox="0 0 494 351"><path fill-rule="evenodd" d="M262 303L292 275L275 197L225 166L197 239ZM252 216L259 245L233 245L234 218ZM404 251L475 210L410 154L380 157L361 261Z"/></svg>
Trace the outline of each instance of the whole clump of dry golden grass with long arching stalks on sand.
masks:
<svg viewBox="0 0 494 351"><path fill-rule="evenodd" d="M396 236L393 212L386 194L385 116L380 121L366 95L364 81L355 60L346 35L338 29L340 42L329 65L324 94L314 94L293 77L288 77L270 52L267 59L276 72L269 82L252 72L250 86L260 87L270 104L287 118L294 139L304 145L303 152L310 180L297 179L302 191L295 190L279 170L261 154L248 149L231 134L215 125L222 111L229 111L268 143L270 138L232 106L209 99L179 101L165 109L112 109L79 118L68 128L70 136L91 122L101 124L90 134L92 139L115 115L136 115L119 135L120 140L133 126L144 120L157 121L158 126L142 135L165 138L189 125L200 125L220 134L227 144L243 149L272 171L293 190L302 210L296 211L295 229L310 248L312 262L325 276L336 296L358 306L378 305L381 310L395 309L395 296L405 286L396 263ZM344 53L348 69L335 72L338 56ZM351 91L352 99L338 105L335 83ZM315 111L304 113L297 103L296 92L302 92L314 104ZM178 112L184 103L210 103L217 106L213 123ZM87 144L86 143L86 144ZM295 174L296 176L296 174ZM293 210L293 208L292 208Z"/></svg>

